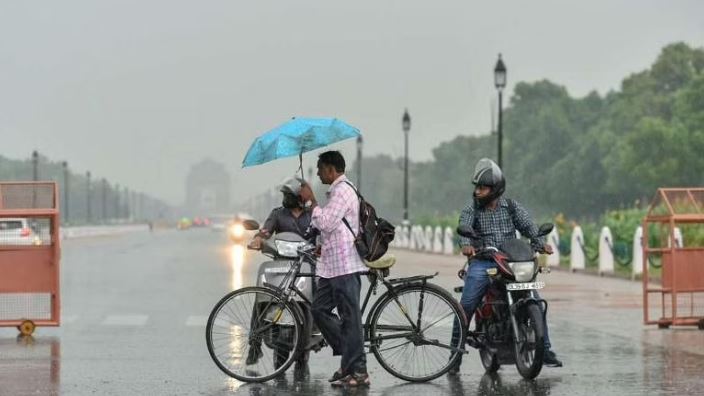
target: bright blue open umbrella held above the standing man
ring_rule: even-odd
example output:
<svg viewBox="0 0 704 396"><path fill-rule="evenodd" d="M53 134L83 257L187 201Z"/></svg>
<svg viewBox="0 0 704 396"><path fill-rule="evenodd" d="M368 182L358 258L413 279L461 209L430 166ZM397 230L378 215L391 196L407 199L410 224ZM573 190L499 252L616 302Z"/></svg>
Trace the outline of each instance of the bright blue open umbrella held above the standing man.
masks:
<svg viewBox="0 0 704 396"><path fill-rule="evenodd" d="M242 167L297 155L361 136L359 129L337 118L293 118L259 136L247 151Z"/></svg>

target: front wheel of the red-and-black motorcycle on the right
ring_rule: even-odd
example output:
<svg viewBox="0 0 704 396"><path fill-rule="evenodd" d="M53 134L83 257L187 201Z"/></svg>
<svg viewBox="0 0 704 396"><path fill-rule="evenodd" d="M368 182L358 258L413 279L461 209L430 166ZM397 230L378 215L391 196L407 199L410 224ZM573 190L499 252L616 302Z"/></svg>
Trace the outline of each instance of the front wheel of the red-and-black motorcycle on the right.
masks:
<svg viewBox="0 0 704 396"><path fill-rule="evenodd" d="M518 342L514 343L516 368L525 379L533 379L543 368L545 322L537 304L528 304L517 312Z"/></svg>

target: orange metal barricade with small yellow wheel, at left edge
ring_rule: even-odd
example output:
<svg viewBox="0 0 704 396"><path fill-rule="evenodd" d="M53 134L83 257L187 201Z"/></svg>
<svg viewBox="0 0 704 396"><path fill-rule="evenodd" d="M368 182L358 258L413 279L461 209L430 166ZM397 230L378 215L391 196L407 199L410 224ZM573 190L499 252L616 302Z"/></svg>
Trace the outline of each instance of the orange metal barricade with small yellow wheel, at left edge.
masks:
<svg viewBox="0 0 704 396"><path fill-rule="evenodd" d="M58 188L0 183L0 326L60 324Z"/></svg>

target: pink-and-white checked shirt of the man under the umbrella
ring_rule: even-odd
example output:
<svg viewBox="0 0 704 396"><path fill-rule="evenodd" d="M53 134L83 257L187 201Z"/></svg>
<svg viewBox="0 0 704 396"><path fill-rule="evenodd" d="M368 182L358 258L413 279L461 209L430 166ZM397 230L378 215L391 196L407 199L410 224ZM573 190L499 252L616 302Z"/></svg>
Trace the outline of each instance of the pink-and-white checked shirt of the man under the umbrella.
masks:
<svg viewBox="0 0 704 396"><path fill-rule="evenodd" d="M322 243L316 273L321 278L334 278L366 271L354 247L354 235L342 218L347 219L355 235L359 232L359 198L348 185L347 177L338 177L328 189L328 202L313 208L311 224L320 230Z"/></svg>

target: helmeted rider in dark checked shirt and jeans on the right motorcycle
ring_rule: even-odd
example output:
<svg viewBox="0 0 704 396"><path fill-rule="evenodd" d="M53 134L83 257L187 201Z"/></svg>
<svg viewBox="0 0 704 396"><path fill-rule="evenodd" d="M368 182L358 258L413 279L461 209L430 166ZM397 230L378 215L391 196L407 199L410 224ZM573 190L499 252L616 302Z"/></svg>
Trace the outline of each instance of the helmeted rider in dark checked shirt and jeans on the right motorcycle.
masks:
<svg viewBox="0 0 704 396"><path fill-rule="evenodd" d="M482 246L500 247L504 241L516 238L516 230L530 239L533 249L540 253L552 254L552 247L539 238L538 227L533 223L528 212L518 202L502 197L506 190L506 179L501 168L492 160L482 158L477 162L472 177L474 193L472 200L462 210L459 225L473 228L481 240L471 240L460 237L459 244L462 254L469 258L466 270L461 270L464 276L464 288L460 304L464 308L469 321L474 311L481 303L489 287L487 269L496 268L496 263L490 260L473 258L476 250ZM561 367L550 349L547 321L545 324L545 354L543 364L548 367ZM461 357L450 370L451 374L459 372Z"/></svg>

